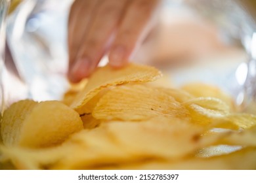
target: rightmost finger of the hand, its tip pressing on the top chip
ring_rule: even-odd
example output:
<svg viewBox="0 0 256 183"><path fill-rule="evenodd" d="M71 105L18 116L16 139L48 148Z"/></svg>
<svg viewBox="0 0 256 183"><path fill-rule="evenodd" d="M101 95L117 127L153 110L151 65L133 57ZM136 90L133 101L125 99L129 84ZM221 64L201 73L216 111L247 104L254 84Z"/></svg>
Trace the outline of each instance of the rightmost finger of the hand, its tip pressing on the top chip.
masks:
<svg viewBox="0 0 256 183"><path fill-rule="evenodd" d="M147 25L158 5L158 0L133 0L123 17L112 48L110 65L121 67L127 63L137 43L146 37Z"/></svg>

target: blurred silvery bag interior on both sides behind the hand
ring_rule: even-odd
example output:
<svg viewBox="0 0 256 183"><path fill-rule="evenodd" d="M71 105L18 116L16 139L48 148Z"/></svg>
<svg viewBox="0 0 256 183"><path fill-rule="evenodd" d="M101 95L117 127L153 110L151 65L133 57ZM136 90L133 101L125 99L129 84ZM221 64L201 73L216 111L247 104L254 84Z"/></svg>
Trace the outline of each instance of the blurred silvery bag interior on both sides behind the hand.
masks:
<svg viewBox="0 0 256 183"><path fill-rule="evenodd" d="M61 99L67 90L72 2L11 1L1 66L2 109L19 99ZM255 9L254 0L165 0L156 29L131 59L160 68L175 87L214 84L238 105L251 105L256 98ZM105 56L100 65L107 62Z"/></svg>

